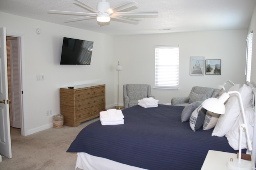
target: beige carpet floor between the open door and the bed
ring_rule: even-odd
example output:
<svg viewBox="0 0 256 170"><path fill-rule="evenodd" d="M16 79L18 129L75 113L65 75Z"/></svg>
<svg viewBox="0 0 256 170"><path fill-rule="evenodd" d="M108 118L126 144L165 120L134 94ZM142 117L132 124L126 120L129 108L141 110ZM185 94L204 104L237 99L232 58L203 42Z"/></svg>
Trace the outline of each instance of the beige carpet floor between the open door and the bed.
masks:
<svg viewBox="0 0 256 170"><path fill-rule="evenodd" d="M84 127L98 119L26 137L20 135L20 129L11 128L12 158L2 158L0 170L75 170L77 155L66 150Z"/></svg>

